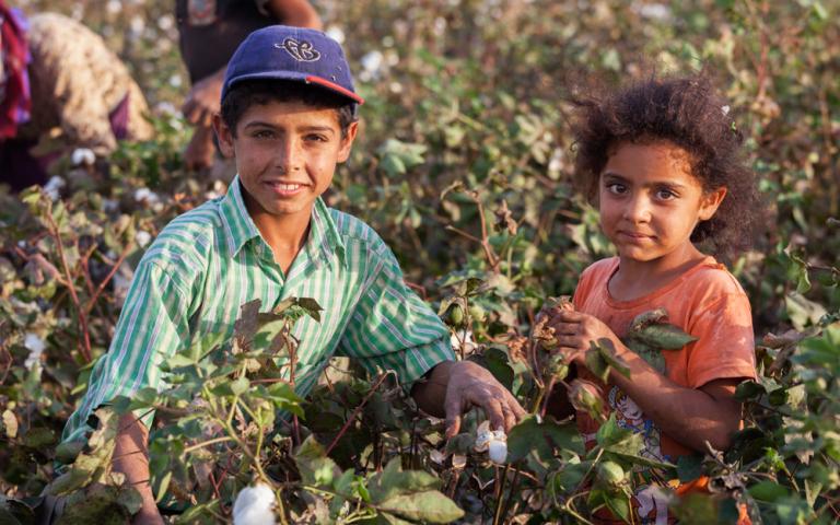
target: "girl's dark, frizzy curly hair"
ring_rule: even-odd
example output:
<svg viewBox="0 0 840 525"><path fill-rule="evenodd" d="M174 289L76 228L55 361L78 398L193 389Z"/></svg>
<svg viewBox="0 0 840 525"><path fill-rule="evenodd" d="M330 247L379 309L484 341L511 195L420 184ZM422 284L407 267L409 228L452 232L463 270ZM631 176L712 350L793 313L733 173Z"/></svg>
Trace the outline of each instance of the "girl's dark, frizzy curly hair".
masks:
<svg viewBox="0 0 840 525"><path fill-rule="evenodd" d="M599 97L578 97L573 133L575 183L591 201L607 159L622 142L669 141L688 152L691 174L704 191L722 186L726 198L700 222L691 241L723 258L749 247L762 217L755 174L742 151L743 136L705 73L649 79Z"/></svg>

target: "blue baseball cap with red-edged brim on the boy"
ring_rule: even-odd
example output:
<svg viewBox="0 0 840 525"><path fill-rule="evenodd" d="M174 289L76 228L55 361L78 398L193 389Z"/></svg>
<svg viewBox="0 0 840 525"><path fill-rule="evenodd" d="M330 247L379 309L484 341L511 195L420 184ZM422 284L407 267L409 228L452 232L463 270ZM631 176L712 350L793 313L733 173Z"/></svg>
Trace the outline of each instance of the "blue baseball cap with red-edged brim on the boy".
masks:
<svg viewBox="0 0 840 525"><path fill-rule="evenodd" d="M234 84L253 79L312 83L364 104L353 89L341 45L316 30L269 25L249 34L228 62L222 100Z"/></svg>

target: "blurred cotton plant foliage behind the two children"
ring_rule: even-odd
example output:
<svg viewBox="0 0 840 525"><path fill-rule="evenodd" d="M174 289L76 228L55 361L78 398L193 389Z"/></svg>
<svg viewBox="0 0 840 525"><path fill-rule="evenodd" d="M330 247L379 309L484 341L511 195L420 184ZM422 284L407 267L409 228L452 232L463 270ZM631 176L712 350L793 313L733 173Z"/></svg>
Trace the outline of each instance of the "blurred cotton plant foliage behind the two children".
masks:
<svg viewBox="0 0 840 525"><path fill-rule="evenodd" d="M493 293L476 298L470 319L479 343L527 334L545 298L570 294L580 271L610 254L597 211L570 184L570 94L700 68L731 101L766 199L755 212L767 228L751 252L730 261L750 295L757 339L789 329L813 336L837 322L839 1L313 3L366 100L353 155L327 200L373 225L435 304L465 276L491 281ZM180 164L188 80L171 2L18 4L68 14L101 34L145 93L158 136L122 144L95 167L59 163L67 186L54 205L0 190L0 400L22 427L46 429L40 441L0 453L13 465L0 481L10 495L37 493L49 475L43 445L55 443L91 361L109 342L119 307L112 284L124 273L114 269L124 260L130 268L175 214L223 191ZM65 217L50 225L52 212ZM56 238L67 243L67 268ZM36 254L50 266L33 261ZM43 370L31 361L33 335ZM759 362L778 351L759 349ZM840 348L830 351L840 360ZM793 370L774 371L780 384L802 380ZM837 377L822 388L837 389ZM820 417L837 434L838 401L826 395L833 411Z"/></svg>

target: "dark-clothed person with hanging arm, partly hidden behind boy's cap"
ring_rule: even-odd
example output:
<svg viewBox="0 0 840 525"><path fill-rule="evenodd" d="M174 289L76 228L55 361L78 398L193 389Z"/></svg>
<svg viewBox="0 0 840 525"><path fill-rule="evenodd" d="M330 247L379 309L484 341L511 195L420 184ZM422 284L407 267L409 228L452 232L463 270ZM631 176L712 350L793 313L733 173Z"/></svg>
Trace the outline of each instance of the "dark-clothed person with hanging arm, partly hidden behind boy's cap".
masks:
<svg viewBox="0 0 840 525"><path fill-rule="evenodd" d="M176 0L180 55L192 89L184 117L196 127L184 152L188 170L213 165L212 116L219 113L228 61L252 32L283 24L320 30L320 18L307 0Z"/></svg>

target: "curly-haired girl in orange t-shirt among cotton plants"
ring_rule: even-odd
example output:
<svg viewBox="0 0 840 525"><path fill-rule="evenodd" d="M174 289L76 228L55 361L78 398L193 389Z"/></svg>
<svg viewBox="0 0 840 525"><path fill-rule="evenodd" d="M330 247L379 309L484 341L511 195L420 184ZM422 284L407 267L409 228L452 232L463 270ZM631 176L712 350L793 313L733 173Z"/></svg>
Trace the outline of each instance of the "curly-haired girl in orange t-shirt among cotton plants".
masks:
<svg viewBox="0 0 840 525"><path fill-rule="evenodd" d="M740 421L735 387L755 377L747 296L704 253L733 255L760 212L725 104L702 74L649 80L581 102L574 127L576 182L597 202L618 255L583 272L575 311L553 311L549 326L579 377L599 386L619 424L642 434L643 455L672 463L708 451L707 442L728 447ZM637 315L661 307L697 340L663 352L657 370L620 338ZM630 369L629 377L612 372L606 385L584 361L604 339ZM552 407L559 415L563 404ZM598 423L582 412L576 420L594 441ZM639 488L638 517L667 523L667 501L652 494Z"/></svg>

